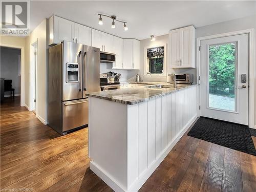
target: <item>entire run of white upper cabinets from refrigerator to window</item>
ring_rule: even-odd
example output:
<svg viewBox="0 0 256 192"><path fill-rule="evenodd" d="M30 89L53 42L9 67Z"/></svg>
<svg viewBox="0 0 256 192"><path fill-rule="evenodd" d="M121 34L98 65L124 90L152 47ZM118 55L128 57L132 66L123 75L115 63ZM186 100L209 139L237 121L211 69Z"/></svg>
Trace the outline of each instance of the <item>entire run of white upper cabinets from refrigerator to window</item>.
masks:
<svg viewBox="0 0 256 192"><path fill-rule="evenodd" d="M49 45L61 41L97 47L102 52L115 53L113 69L140 69L140 41L122 39L53 15L49 18ZM184 33L185 34L185 33ZM184 52L184 54L186 54Z"/></svg>

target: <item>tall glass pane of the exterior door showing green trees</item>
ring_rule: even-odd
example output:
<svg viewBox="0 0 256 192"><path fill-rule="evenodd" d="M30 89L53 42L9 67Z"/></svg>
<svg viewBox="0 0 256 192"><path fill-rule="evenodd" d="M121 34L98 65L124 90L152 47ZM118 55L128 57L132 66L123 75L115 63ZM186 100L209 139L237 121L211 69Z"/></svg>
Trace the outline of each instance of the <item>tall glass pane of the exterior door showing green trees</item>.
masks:
<svg viewBox="0 0 256 192"><path fill-rule="evenodd" d="M209 108L236 111L236 42L209 46Z"/></svg>

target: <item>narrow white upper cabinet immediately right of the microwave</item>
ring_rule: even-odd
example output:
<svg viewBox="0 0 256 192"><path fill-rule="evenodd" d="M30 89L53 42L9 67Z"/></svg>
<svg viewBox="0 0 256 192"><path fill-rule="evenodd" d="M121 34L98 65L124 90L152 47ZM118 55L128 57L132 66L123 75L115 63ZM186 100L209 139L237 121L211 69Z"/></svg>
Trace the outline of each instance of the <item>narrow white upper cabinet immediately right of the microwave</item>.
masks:
<svg viewBox="0 0 256 192"><path fill-rule="evenodd" d="M116 54L116 62L113 63L112 69L123 69L123 39L113 37L113 53Z"/></svg>

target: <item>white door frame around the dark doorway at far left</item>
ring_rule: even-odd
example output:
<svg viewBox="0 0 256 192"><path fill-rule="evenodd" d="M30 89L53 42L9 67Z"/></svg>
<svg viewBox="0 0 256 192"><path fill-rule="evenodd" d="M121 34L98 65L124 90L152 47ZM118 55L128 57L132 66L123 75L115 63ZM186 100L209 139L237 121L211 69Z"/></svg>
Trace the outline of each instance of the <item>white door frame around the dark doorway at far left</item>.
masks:
<svg viewBox="0 0 256 192"><path fill-rule="evenodd" d="M2 44L0 42L0 46L20 49L20 106L25 106L24 98L25 98L25 47L23 46L15 46L11 44Z"/></svg>

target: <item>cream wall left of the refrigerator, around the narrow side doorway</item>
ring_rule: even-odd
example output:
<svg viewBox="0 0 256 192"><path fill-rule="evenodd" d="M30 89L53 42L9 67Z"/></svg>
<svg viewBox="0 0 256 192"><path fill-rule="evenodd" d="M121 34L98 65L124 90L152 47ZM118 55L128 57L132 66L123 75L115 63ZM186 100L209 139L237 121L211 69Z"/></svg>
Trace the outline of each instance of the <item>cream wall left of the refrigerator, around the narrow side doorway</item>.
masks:
<svg viewBox="0 0 256 192"><path fill-rule="evenodd" d="M30 106L30 49L37 41L37 82L36 82L36 116L47 122L47 19L42 22L26 37L25 63L25 104Z"/></svg>

